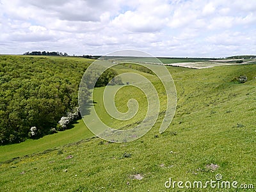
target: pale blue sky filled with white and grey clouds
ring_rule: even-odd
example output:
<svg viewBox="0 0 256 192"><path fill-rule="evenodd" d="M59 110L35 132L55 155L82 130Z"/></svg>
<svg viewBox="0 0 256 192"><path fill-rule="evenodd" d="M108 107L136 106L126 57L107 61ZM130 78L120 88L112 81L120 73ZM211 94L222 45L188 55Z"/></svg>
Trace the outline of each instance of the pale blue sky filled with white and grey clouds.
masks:
<svg viewBox="0 0 256 192"><path fill-rule="evenodd" d="M0 54L256 54L255 0L0 0Z"/></svg>

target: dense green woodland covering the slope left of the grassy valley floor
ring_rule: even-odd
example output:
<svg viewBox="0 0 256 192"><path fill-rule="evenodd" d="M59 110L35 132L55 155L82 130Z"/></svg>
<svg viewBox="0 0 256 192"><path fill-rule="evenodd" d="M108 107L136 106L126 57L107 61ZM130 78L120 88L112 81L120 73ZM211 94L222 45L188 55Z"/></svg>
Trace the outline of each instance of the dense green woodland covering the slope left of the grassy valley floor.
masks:
<svg viewBox="0 0 256 192"><path fill-rule="evenodd" d="M53 133L77 106L79 82L90 61L0 56L0 145ZM84 90L85 97L89 96Z"/></svg>

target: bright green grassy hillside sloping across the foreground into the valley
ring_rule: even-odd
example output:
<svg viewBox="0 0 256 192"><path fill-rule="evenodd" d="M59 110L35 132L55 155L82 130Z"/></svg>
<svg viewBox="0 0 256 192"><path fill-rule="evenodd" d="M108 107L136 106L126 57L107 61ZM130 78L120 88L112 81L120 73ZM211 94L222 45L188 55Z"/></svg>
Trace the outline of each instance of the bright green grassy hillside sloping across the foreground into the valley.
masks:
<svg viewBox="0 0 256 192"><path fill-rule="evenodd" d="M120 66L116 70L133 71ZM221 174L222 180L236 180L238 188L241 184L253 184L256 188L256 65L201 70L168 67L168 70L175 81L178 103L166 132L159 134L163 118L159 115L145 136L130 143L109 143L92 138L63 146L66 141L77 141L78 137L76 141L68 138L74 132L81 139L92 136L82 122L78 122L74 129L68 130L70 133L64 131L24 144L4 146L4 150L1 147L2 161L14 157L12 152L15 151L15 156L20 156L1 164L1 191L180 191L177 186L166 189L164 183L170 177L175 181L206 182L216 180L216 174ZM231 81L242 74L248 77L246 83ZM163 110L161 85L154 76L143 75L159 87ZM97 88L93 100L107 124L125 127L143 118L144 109L129 122L112 122L102 111L99 97L102 92L103 88ZM120 111L127 110L127 97L136 98L139 104L145 102L140 92L124 89L115 100ZM40 151L33 148L36 142L48 143L40 147L41 152L55 147L58 150L22 157ZM211 168L211 164L216 164L217 169ZM212 191L212 188L186 191Z"/></svg>

